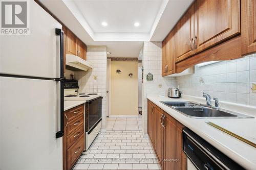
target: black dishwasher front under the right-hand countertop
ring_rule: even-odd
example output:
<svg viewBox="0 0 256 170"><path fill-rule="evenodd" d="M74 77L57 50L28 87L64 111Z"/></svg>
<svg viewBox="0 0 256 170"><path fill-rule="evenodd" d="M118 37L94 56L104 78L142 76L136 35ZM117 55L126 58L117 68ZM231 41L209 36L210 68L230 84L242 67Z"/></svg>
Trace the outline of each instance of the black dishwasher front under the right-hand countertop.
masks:
<svg viewBox="0 0 256 170"><path fill-rule="evenodd" d="M188 128L183 129L183 151L200 170L244 169Z"/></svg>

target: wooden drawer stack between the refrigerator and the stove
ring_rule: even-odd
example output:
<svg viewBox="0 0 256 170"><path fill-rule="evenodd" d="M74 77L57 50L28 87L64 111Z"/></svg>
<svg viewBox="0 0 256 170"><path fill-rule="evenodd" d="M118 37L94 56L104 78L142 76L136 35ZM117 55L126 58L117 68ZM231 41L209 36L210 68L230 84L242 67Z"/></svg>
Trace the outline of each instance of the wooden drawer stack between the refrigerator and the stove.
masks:
<svg viewBox="0 0 256 170"><path fill-rule="evenodd" d="M84 151L84 105L64 112L63 170L70 170Z"/></svg>

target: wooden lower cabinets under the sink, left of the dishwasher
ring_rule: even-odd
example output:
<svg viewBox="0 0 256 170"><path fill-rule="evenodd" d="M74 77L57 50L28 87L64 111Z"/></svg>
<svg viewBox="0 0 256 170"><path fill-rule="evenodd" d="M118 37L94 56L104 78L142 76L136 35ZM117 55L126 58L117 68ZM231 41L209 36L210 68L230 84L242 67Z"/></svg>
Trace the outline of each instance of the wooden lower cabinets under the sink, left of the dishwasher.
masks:
<svg viewBox="0 0 256 170"><path fill-rule="evenodd" d="M154 108L155 121L148 121L147 127L154 127L155 133L151 137L152 132L150 130L148 135L154 138L153 147L161 168L164 170L185 170L186 156L182 144L182 128L184 126L148 100L148 115L152 114L150 108Z"/></svg>

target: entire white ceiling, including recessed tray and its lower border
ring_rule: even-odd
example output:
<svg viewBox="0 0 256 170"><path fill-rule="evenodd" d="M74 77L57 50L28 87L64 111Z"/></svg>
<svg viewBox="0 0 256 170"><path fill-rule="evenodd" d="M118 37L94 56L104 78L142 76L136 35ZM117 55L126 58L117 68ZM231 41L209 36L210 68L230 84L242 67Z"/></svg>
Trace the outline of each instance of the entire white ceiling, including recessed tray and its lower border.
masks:
<svg viewBox="0 0 256 170"><path fill-rule="evenodd" d="M144 41L162 41L193 0L39 0L87 45L108 57L139 57ZM101 22L108 22L107 27ZM134 22L140 22L134 27Z"/></svg>

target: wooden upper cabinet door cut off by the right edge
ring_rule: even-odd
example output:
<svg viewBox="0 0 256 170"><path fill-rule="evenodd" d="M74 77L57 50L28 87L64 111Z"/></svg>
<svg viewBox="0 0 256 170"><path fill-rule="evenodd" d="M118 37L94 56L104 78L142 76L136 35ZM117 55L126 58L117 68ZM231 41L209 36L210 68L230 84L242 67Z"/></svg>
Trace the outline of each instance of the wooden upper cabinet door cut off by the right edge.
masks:
<svg viewBox="0 0 256 170"><path fill-rule="evenodd" d="M241 1L242 55L256 52L256 0Z"/></svg>

